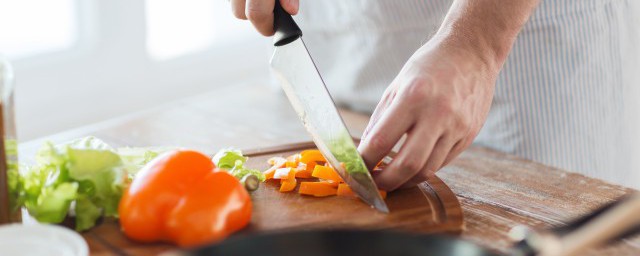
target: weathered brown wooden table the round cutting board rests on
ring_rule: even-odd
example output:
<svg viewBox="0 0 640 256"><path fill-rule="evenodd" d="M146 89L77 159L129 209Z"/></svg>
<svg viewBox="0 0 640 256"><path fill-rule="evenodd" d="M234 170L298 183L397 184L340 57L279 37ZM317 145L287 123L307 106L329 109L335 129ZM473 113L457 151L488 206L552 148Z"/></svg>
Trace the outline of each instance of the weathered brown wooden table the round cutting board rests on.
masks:
<svg viewBox="0 0 640 256"><path fill-rule="evenodd" d="M342 114L352 135L359 136L368 117L349 111ZM32 158L44 140L57 143L86 135L114 146L176 145L209 153L229 146L248 149L310 140L279 90L244 84L217 87L155 109L23 143L21 158ZM513 226L561 225L634 191L475 146L438 176L461 201L466 221L461 237L497 251L510 246L507 232ZM84 233L94 254L151 255L171 248L130 246L124 237L121 242L106 242L98 234L120 236L115 225ZM592 253L640 255L640 237Z"/></svg>

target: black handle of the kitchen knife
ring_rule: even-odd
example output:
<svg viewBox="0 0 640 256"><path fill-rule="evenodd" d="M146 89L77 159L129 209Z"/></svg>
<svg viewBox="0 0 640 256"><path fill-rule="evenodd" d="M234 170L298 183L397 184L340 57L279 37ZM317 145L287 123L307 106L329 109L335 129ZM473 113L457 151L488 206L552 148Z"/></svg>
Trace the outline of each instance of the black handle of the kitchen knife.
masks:
<svg viewBox="0 0 640 256"><path fill-rule="evenodd" d="M282 46L295 41L302 36L302 30L293 20L291 14L287 13L280 5L280 0L276 0L273 8L273 45Z"/></svg>

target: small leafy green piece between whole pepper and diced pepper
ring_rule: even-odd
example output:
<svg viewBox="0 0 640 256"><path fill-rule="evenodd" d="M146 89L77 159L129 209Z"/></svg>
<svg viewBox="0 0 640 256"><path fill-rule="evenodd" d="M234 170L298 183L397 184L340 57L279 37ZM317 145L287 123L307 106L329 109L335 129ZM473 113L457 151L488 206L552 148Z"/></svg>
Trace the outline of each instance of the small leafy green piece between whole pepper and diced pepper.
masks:
<svg viewBox="0 0 640 256"><path fill-rule="evenodd" d="M242 180L242 178L248 174L253 174L258 177L260 182L263 182L266 177L261 171L244 166L248 159L248 157L242 155L242 151L228 148L218 151L212 160L218 168L226 169L238 180Z"/></svg>

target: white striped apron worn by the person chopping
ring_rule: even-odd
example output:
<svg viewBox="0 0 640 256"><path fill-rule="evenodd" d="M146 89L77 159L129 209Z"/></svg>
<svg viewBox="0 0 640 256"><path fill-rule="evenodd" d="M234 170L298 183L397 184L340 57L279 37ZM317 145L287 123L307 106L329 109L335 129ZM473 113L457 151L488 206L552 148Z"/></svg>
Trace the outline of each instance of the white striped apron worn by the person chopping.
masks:
<svg viewBox="0 0 640 256"><path fill-rule="evenodd" d="M302 0L296 20L334 99L370 112L450 5ZM542 1L475 144L640 188L638 102L640 1Z"/></svg>

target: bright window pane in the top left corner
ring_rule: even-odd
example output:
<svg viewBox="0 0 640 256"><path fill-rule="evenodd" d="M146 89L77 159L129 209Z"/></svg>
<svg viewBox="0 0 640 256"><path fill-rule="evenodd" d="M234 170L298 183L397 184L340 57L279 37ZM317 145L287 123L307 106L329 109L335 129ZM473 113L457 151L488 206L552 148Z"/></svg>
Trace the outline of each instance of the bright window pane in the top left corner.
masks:
<svg viewBox="0 0 640 256"><path fill-rule="evenodd" d="M0 54L10 59L72 47L75 0L0 0Z"/></svg>

